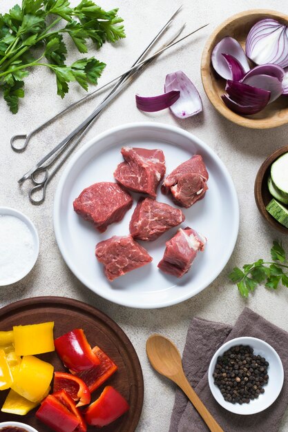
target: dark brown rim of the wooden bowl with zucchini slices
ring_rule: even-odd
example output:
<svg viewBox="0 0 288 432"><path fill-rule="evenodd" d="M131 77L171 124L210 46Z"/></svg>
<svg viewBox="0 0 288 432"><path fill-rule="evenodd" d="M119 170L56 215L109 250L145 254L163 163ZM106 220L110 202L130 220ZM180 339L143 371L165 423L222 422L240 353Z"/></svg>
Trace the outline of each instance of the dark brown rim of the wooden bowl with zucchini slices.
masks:
<svg viewBox="0 0 288 432"><path fill-rule="evenodd" d="M288 153L288 146L284 146L281 148L278 148L278 150L275 150L270 156L268 156L265 161L260 166L258 173L256 175L255 184L254 184L254 197L255 201L258 207L258 210L260 211L260 214L262 217L264 217L267 222L273 226L273 228L276 228L278 231L284 234L288 234L288 228L286 228L284 225L280 224L276 219L273 218L273 216L270 215L270 213L267 212L265 204L263 202L262 197L262 184L264 181L264 177L267 173L267 170L271 167L271 164L273 164L273 161L276 161L278 157L281 155L284 155L285 153ZM266 185L267 189L268 186Z"/></svg>

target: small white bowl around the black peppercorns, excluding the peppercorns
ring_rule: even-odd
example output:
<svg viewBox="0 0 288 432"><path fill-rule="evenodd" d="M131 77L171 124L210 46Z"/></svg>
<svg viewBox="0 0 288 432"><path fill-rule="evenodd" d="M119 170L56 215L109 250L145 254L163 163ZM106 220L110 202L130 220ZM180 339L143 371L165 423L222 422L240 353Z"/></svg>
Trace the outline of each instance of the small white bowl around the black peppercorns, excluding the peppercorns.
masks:
<svg viewBox="0 0 288 432"><path fill-rule="evenodd" d="M265 393L259 395L258 399L251 400L249 404L232 404L224 400L224 397L220 393L218 386L214 384L213 372L217 363L217 359L220 355L223 355L225 351L228 351L232 346L237 345L249 345L254 350L254 355L261 355L265 357L268 366L268 383L263 387ZM271 345L267 344L263 340L257 339L256 337L236 337L236 339L229 340L226 344L222 345L218 351L212 357L208 370L208 381L211 393L217 400L218 404L223 406L224 409L231 411L231 413L249 415L260 413L268 408L277 399L284 382L284 371L282 362L279 355L276 353Z"/></svg>

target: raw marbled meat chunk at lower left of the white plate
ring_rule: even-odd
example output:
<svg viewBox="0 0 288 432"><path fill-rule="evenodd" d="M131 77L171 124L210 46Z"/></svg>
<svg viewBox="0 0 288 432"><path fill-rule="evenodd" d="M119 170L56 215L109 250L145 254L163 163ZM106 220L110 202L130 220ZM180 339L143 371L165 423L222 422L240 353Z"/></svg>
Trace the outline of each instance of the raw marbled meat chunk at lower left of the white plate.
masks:
<svg viewBox="0 0 288 432"><path fill-rule="evenodd" d="M131 235L113 235L110 239L99 242L95 255L98 261L104 264L104 273L110 281L145 266L153 259Z"/></svg>

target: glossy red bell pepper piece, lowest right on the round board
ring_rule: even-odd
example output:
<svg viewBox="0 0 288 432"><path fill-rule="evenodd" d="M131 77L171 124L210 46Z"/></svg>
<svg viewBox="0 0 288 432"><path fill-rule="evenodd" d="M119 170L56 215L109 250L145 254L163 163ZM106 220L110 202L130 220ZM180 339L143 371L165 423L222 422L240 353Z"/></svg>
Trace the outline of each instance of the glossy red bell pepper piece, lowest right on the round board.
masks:
<svg viewBox="0 0 288 432"><path fill-rule="evenodd" d="M106 426L128 411L129 405L120 393L106 386L95 402L88 406L85 420L93 426Z"/></svg>

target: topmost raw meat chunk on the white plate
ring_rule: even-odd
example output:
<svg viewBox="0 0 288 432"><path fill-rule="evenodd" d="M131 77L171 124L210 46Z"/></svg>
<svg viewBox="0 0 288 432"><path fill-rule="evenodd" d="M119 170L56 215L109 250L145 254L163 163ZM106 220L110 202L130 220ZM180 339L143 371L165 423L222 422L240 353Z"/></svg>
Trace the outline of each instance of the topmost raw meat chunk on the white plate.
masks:
<svg viewBox="0 0 288 432"><path fill-rule="evenodd" d="M115 179L134 192L155 198L157 187L166 172L162 150L122 147L121 153L125 161L117 166Z"/></svg>

